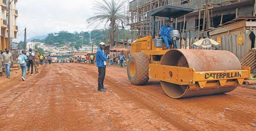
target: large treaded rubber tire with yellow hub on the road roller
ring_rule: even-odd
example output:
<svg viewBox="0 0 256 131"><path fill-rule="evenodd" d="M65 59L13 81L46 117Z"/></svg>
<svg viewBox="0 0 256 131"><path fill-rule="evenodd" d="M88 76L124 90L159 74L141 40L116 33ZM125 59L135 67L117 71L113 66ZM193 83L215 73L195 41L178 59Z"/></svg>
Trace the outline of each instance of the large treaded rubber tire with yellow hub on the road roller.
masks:
<svg viewBox="0 0 256 131"><path fill-rule="evenodd" d="M127 75L131 84L147 84L149 80L148 64L149 60L147 56L143 53L134 53L130 56L130 59L127 64ZM131 68L135 68L136 71L131 71Z"/></svg>

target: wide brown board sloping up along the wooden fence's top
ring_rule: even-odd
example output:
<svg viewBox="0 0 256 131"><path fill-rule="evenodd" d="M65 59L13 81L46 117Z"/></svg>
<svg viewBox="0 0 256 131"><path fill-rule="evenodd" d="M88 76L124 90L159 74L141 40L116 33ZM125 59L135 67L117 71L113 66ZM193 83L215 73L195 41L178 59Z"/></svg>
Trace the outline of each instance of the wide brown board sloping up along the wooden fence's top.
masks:
<svg viewBox="0 0 256 131"><path fill-rule="evenodd" d="M227 32L227 31L237 29L237 28L242 28L242 27L245 27L245 20L214 29L209 32L209 35L215 35L215 34Z"/></svg>

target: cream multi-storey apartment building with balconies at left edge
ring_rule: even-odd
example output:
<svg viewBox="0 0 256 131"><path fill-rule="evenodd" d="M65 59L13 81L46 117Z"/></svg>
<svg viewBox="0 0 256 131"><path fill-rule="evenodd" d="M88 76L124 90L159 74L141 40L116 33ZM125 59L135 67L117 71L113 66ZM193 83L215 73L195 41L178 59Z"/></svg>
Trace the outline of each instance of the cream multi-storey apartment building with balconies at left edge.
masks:
<svg viewBox="0 0 256 131"><path fill-rule="evenodd" d="M8 4L10 3L10 9L8 9ZM17 26L17 17L18 10L16 8L18 0L0 0L0 19L1 19L1 30L0 30L0 49L4 50L9 47L8 34L10 31L11 42L13 38L17 38L18 26ZM10 23L8 19L10 17ZM10 24L10 28L8 28Z"/></svg>

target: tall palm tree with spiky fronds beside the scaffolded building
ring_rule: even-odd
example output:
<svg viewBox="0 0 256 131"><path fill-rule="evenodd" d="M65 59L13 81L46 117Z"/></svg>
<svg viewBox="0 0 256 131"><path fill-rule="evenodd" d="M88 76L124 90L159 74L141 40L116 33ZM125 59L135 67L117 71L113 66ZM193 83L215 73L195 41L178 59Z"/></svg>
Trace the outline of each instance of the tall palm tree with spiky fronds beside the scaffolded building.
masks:
<svg viewBox="0 0 256 131"><path fill-rule="evenodd" d="M108 26L110 29L110 43L112 47L115 46L115 32L118 31L118 25L125 20L124 4L125 1L120 0L110 0L109 2L107 0L97 1L94 6L94 10L97 11L96 16L87 20L90 25L97 22L105 22L104 28ZM110 22L109 25L107 25L108 22Z"/></svg>

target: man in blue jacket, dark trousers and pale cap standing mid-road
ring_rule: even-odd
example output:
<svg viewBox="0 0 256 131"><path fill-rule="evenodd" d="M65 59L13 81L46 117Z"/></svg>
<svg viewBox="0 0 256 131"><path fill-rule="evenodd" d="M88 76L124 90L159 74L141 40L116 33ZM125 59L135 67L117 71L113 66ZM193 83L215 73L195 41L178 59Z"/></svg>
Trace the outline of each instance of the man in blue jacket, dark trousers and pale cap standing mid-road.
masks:
<svg viewBox="0 0 256 131"><path fill-rule="evenodd" d="M101 42L96 53L96 65L98 67L98 91L106 91L107 88L103 86L105 72L106 72L106 60L107 56L104 53L105 43Z"/></svg>

